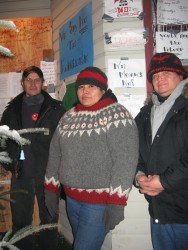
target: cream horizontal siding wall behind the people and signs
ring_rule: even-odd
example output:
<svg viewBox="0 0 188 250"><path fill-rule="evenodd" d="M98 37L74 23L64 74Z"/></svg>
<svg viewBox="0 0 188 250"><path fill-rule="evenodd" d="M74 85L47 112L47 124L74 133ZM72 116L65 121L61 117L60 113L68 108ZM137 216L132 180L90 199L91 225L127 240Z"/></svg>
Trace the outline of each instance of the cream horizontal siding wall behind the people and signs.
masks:
<svg viewBox="0 0 188 250"><path fill-rule="evenodd" d="M83 6L87 0L52 0L51 15L53 22L53 49L57 60L58 79L59 72L59 29L71 19ZM115 20L107 23L102 20L104 14L104 3L102 0L92 1L92 21L93 21L93 43L94 43L94 65L100 67L108 74L107 60L109 57L119 57L120 55L129 58L145 58L145 49L130 51L107 51L104 45L104 33L120 28L142 28L143 21L137 18ZM76 76L65 79L69 84L75 80ZM59 82L60 83L60 82ZM134 89L135 93L142 94L146 88ZM69 221L67 219L65 202L60 202L60 223L62 234L72 242L73 237ZM121 222L115 230L109 233L105 239L102 250L151 250L149 215L147 203L142 195L134 187L130 193L128 206L125 208L125 220Z"/></svg>

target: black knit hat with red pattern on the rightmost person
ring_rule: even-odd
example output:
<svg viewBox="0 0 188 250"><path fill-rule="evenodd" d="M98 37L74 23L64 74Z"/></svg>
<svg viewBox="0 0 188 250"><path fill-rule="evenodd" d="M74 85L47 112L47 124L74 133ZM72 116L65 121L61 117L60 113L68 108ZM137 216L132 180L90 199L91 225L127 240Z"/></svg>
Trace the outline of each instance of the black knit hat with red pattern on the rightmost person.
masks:
<svg viewBox="0 0 188 250"><path fill-rule="evenodd" d="M152 83L152 76L161 71L176 72L182 75L183 79L188 77L188 72L184 69L180 59L173 53L156 53L152 57L147 72L148 81Z"/></svg>

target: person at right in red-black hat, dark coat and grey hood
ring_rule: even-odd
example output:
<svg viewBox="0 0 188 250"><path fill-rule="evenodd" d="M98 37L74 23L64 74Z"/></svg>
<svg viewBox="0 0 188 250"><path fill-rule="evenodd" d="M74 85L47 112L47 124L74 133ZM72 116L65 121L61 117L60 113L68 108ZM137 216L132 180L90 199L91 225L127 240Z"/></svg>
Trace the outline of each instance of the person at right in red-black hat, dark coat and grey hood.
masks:
<svg viewBox="0 0 188 250"><path fill-rule="evenodd" d="M145 195L155 250L188 249L188 72L157 53L147 78L154 92L137 115L140 156L135 185Z"/></svg>

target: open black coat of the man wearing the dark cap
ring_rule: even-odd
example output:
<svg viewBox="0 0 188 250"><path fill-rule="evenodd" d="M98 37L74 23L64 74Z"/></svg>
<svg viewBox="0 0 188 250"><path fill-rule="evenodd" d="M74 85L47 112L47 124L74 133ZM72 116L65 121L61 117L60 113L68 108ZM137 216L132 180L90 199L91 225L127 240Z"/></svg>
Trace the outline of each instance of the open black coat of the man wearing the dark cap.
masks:
<svg viewBox="0 0 188 250"><path fill-rule="evenodd" d="M33 133L32 134L32 151L35 157L35 177L41 182L44 181L46 165L48 161L49 146L52 135L57 127L57 124L64 114L64 109L60 101L53 99L48 93L42 91L44 102L42 103L38 120L36 121L36 128L48 128L49 134ZM0 125L7 125L10 129L22 129L22 99L24 92L16 96L6 107ZM11 164L4 165L4 167L15 173L20 167L20 147L14 141L8 141L7 148L10 158L13 160Z"/></svg>

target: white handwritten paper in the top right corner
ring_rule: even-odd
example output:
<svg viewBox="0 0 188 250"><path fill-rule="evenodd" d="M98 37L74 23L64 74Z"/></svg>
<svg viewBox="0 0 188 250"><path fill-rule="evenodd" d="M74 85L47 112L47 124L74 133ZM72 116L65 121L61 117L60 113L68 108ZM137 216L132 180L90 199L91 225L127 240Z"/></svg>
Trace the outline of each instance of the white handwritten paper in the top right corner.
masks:
<svg viewBox="0 0 188 250"><path fill-rule="evenodd" d="M184 24L187 23L187 0L158 0L157 24Z"/></svg>

